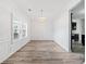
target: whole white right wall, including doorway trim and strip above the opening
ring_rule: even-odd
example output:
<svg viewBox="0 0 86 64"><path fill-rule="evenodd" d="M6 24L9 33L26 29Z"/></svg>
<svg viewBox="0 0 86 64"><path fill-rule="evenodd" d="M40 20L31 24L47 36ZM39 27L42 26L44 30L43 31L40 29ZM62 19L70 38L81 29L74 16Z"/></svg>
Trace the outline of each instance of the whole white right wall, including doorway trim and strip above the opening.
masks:
<svg viewBox="0 0 86 64"><path fill-rule="evenodd" d="M70 9L72 9L79 0L70 0L69 4L65 5L59 17L54 22L54 41L59 43L65 51L71 51L71 36L70 36Z"/></svg>

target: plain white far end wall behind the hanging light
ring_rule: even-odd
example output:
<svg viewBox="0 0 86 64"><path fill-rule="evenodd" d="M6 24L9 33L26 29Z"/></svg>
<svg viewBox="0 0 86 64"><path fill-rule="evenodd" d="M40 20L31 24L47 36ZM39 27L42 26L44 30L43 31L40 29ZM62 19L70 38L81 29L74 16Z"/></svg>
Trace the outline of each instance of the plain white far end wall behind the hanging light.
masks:
<svg viewBox="0 0 86 64"><path fill-rule="evenodd" d="M32 21L32 40L53 40L52 21L34 17Z"/></svg>

